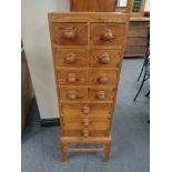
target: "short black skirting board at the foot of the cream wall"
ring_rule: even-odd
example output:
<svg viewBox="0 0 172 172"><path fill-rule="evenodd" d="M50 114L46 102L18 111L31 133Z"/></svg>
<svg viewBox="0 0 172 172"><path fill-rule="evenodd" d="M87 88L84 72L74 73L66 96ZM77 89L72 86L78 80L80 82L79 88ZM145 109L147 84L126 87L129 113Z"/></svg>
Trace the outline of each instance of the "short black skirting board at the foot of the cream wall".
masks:
<svg viewBox="0 0 172 172"><path fill-rule="evenodd" d="M41 127L60 127L60 119L40 119Z"/></svg>

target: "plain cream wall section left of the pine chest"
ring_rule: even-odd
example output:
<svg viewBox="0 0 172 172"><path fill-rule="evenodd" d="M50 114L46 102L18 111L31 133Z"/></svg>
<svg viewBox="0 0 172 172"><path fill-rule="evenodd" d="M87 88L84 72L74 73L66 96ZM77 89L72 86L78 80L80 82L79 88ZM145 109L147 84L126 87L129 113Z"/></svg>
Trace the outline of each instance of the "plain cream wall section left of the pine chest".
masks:
<svg viewBox="0 0 172 172"><path fill-rule="evenodd" d="M41 119L58 118L48 12L69 11L69 0L22 0L22 41Z"/></svg>

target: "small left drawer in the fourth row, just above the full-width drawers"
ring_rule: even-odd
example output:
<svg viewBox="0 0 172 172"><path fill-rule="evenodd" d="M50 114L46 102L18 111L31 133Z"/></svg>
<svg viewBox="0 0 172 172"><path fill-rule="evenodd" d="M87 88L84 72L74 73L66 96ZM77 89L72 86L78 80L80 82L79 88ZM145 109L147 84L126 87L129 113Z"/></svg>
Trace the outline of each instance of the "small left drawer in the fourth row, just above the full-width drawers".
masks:
<svg viewBox="0 0 172 172"><path fill-rule="evenodd" d="M70 101L79 101L79 100L87 100L88 89L70 89L60 88L59 94L61 100L70 100Z"/></svg>

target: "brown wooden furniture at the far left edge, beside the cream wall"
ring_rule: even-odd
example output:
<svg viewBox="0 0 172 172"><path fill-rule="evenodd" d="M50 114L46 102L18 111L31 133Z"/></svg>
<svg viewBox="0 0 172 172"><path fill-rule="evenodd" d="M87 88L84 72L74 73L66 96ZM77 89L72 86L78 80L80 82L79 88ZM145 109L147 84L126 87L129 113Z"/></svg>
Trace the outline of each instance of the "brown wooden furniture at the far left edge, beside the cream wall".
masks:
<svg viewBox="0 0 172 172"><path fill-rule="evenodd" d="M21 129L24 128L31 99L33 97L26 52L21 50Z"/></svg>

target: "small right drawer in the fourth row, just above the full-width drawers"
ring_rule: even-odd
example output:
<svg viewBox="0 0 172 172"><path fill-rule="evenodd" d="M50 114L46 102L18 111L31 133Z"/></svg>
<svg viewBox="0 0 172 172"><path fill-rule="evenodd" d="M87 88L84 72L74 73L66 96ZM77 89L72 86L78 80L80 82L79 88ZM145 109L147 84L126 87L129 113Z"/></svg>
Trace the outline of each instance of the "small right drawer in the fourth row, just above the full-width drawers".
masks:
<svg viewBox="0 0 172 172"><path fill-rule="evenodd" d="M109 89L89 89L89 99L92 101L113 101L114 88Z"/></svg>

